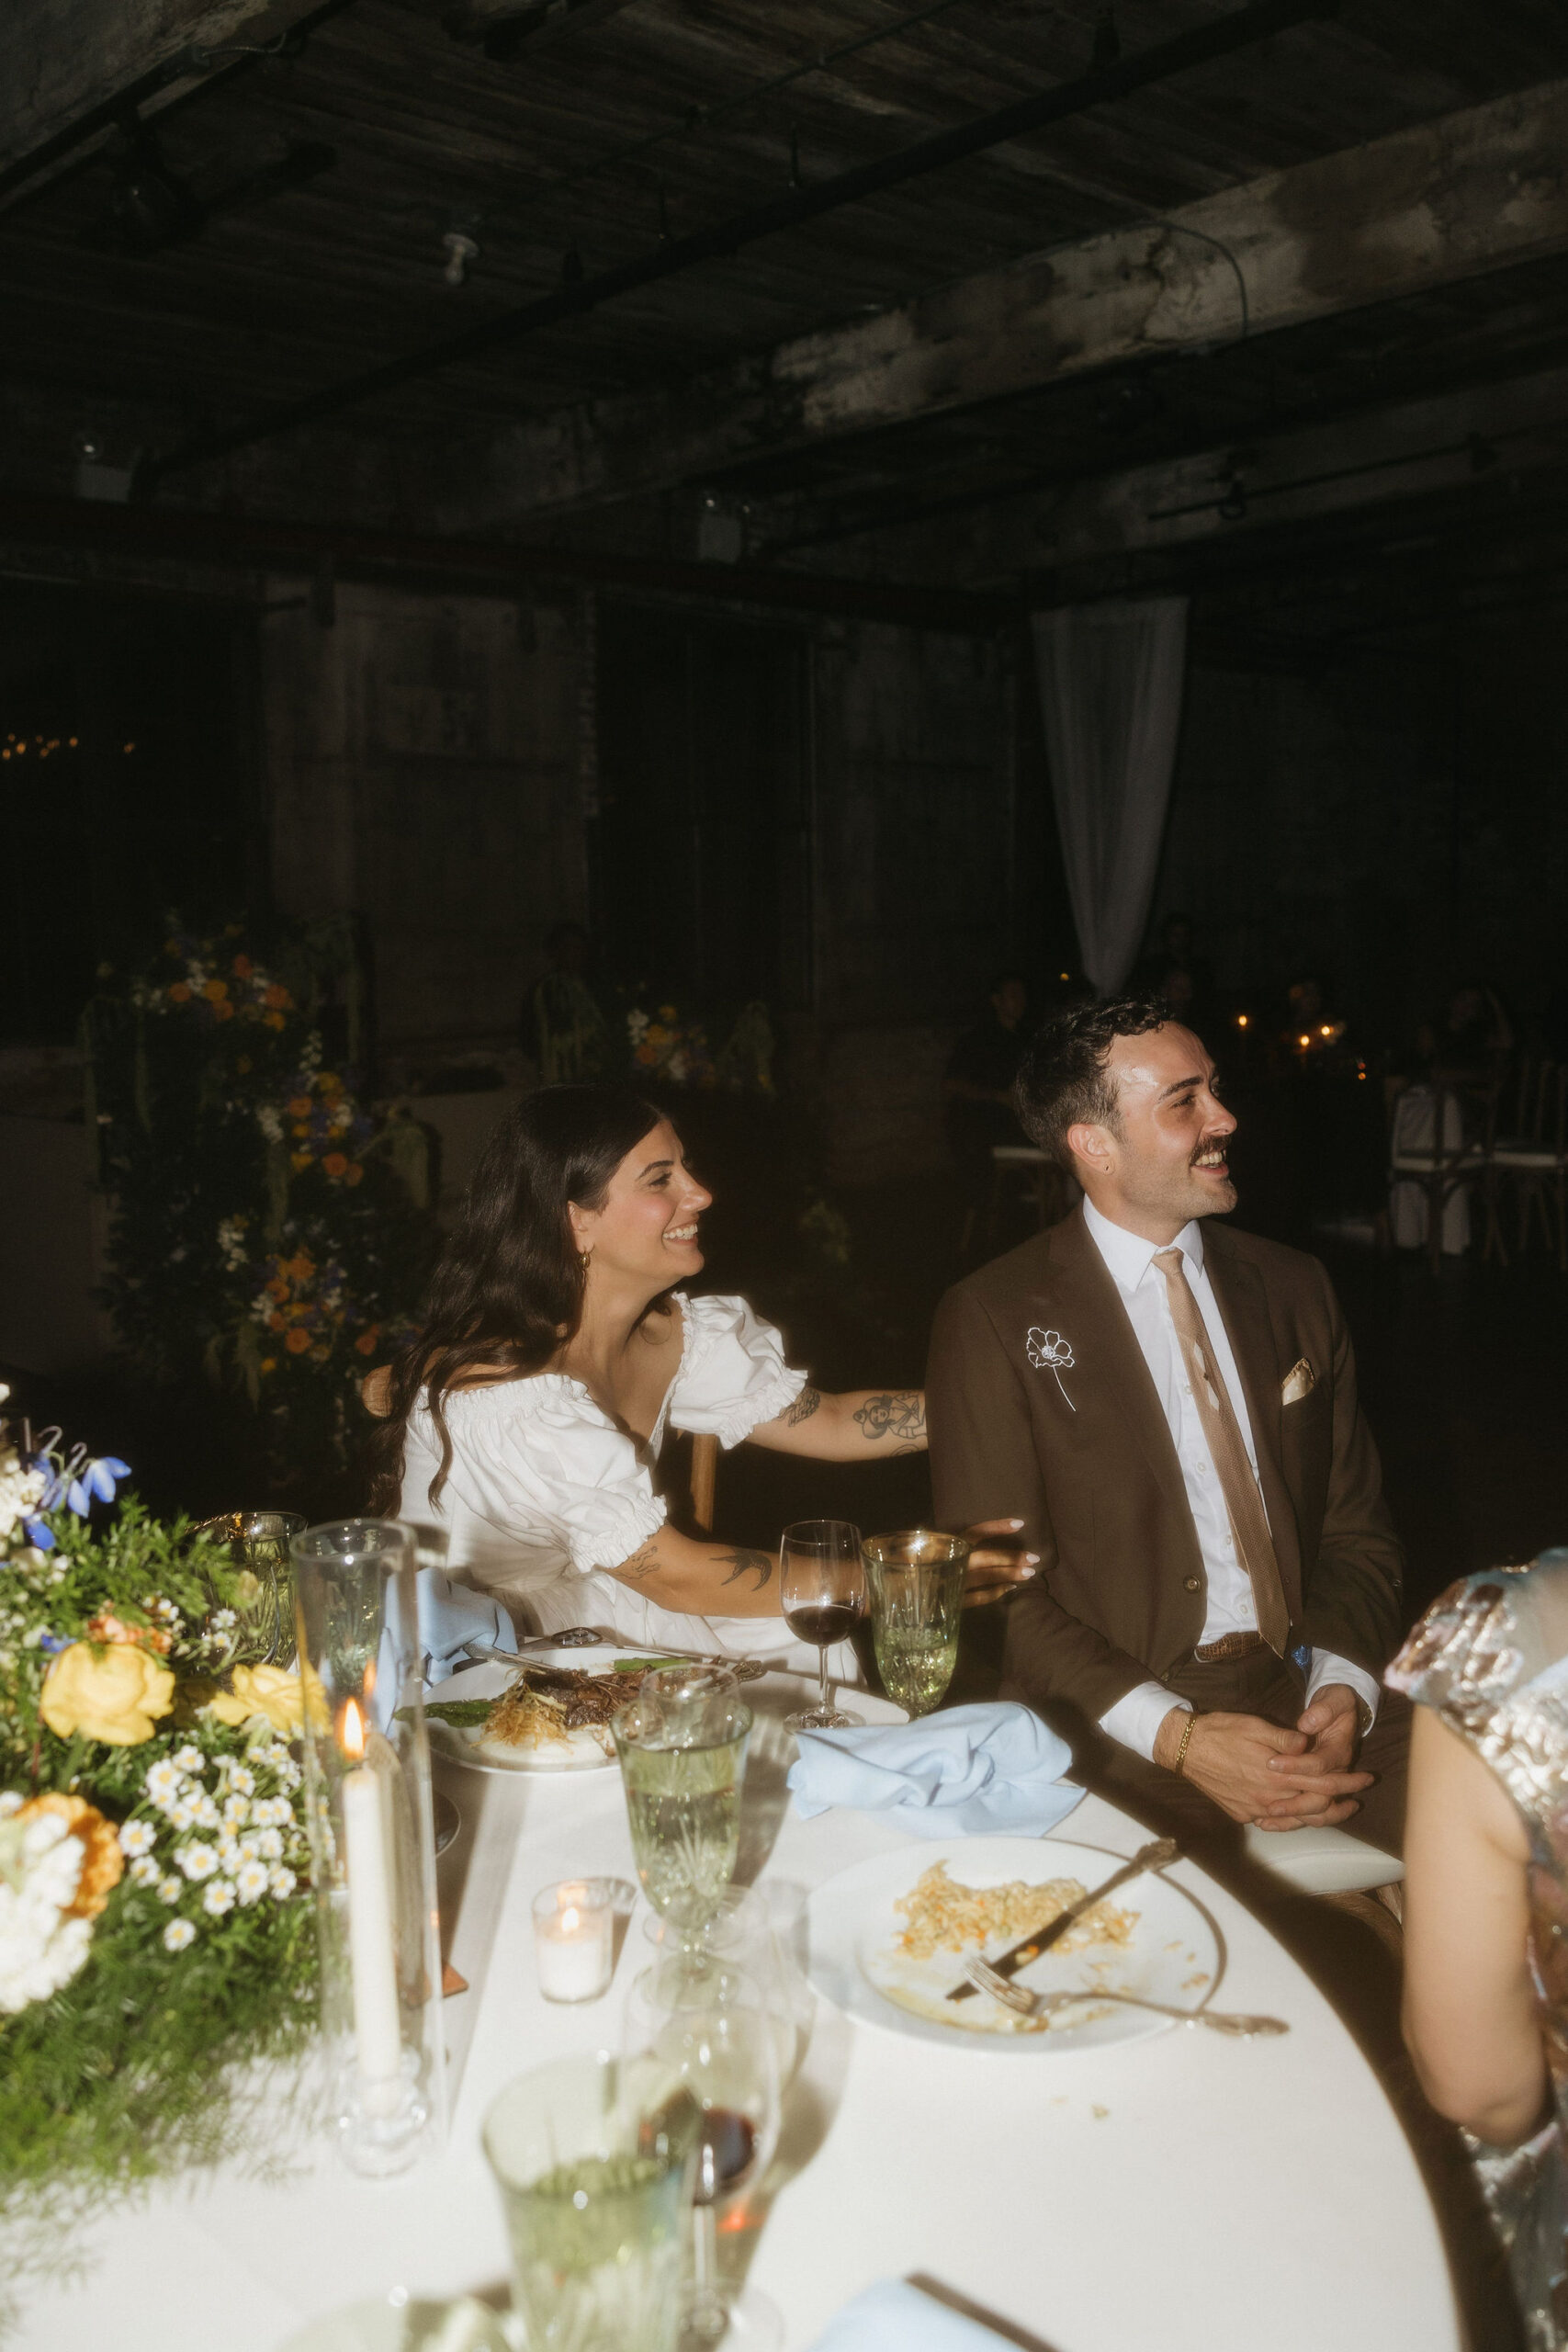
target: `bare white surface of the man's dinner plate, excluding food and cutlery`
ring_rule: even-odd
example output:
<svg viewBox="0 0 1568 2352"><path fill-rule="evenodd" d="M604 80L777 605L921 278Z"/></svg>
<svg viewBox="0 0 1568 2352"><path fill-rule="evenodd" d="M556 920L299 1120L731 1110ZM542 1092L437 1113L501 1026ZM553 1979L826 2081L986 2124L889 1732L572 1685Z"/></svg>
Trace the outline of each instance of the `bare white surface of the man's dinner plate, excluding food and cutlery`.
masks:
<svg viewBox="0 0 1568 2352"><path fill-rule="evenodd" d="M806 1907L811 1922L809 1976L835 2009L875 2025L882 2032L907 2034L912 2042L938 2042L945 2049L971 2049L990 2056L1048 2056L1060 2051L1103 2049L1112 2042L1143 2042L1171 2023L1145 2009L1119 2002L1067 2009L1041 2032L1018 2032L1011 2011L976 1992L950 2004L950 1985L964 1976L964 1957L983 1950L987 1959L1020 1943L1030 1926L990 1936L966 1952L936 1952L912 1959L898 1950L905 1929L893 1907L936 1863L961 1886L1006 1886L1023 1879L1039 1886L1048 1879L1077 1879L1100 1886L1124 1856L1103 1846L1074 1846L1065 1837L922 1837L896 1853L875 1853L851 1870L839 1870L816 1889ZM1178 2009L1201 2009L1220 1976L1220 1945L1208 1915L1171 1879L1145 1875L1110 1896L1114 1912L1126 1912L1126 1943L1095 1940L1070 1952L1046 1952L1020 1969L1018 1983L1030 1992L1086 1990L1107 1985L1114 1992L1145 1992L1152 2002ZM954 2023L947 2023L947 2020ZM994 2030L980 2030L983 2025Z"/></svg>

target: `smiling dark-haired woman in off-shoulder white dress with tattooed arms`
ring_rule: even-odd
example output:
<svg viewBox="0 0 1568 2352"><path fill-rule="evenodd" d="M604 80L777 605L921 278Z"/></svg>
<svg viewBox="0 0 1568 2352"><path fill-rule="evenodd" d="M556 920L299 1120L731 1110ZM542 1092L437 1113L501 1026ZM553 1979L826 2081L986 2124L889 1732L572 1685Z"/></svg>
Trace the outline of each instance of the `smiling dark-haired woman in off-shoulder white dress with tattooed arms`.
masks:
<svg viewBox="0 0 1568 2352"><path fill-rule="evenodd" d="M670 1430L816 1461L924 1451L922 1390L823 1395L743 1298L686 1298L712 1195L665 1115L621 1087L545 1087L484 1145L425 1324L364 1383L383 1416L371 1508L440 1529L444 1569L520 1632L602 1625L639 1646L816 1663L771 1552L679 1534L654 1465ZM1034 1573L971 1536L971 1599ZM830 1672L853 1679L849 1644Z"/></svg>

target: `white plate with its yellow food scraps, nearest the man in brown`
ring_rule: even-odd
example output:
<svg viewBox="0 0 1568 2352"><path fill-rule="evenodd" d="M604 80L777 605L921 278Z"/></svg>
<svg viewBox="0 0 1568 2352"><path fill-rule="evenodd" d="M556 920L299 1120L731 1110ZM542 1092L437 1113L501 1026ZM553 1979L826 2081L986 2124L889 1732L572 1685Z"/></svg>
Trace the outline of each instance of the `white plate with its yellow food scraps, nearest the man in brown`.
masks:
<svg viewBox="0 0 1568 2352"><path fill-rule="evenodd" d="M1065 1837L922 1839L875 1853L811 1896L811 1983L863 2025L947 2049L1030 2056L1143 2042L1173 2020L1095 2004L1095 1987L1201 2009L1220 1976L1208 1912L1157 1875L1119 1886L1016 1976L1030 1992L1081 1992L1081 2004L1020 2018L990 1992L947 1999L966 1959L999 1959L1121 1860Z"/></svg>

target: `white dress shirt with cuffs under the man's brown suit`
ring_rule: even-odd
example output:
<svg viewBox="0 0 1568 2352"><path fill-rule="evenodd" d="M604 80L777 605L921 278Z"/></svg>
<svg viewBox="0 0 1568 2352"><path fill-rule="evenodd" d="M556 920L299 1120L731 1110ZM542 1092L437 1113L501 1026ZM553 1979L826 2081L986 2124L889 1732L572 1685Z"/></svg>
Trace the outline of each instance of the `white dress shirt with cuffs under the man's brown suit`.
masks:
<svg viewBox="0 0 1568 2352"><path fill-rule="evenodd" d="M1246 1390L1241 1388L1241 1376L1229 1348L1225 1319L1220 1317L1220 1305L1213 1296L1213 1284L1204 1270L1204 1228L1194 1218L1190 1225L1182 1225L1173 1244L1145 1242L1143 1235L1128 1232L1126 1225L1112 1225L1112 1221L1100 1216L1088 1200L1084 1202L1084 1223L1088 1225L1095 1249L1105 1258L1105 1270L1117 1284L1117 1296L1126 1308L1133 1336L1143 1348L1145 1364L1150 1367L1159 1406L1171 1425L1175 1458L1182 1465L1182 1484L1187 1489L1187 1503L1192 1505L1192 1524L1197 1529L1199 1550L1204 1555L1204 1576L1208 1583L1208 1616L1204 1618L1201 1639L1208 1644L1220 1642L1227 1632L1258 1632L1253 1583L1246 1566L1237 1557L1237 1543L1229 1531L1229 1512L1225 1510L1225 1489L1220 1486L1220 1472L1215 1470L1213 1454L1208 1451L1208 1437L1187 1381L1187 1367L1182 1362L1175 1324L1171 1322L1166 1277L1154 1265L1154 1254L1166 1247L1180 1249L1187 1261L1187 1289L1197 1301L1204 1331L1213 1350L1213 1364L1225 1381L1225 1390L1237 1414L1237 1428L1241 1430L1241 1442L1246 1446L1246 1458L1253 1465L1253 1477L1258 1477L1258 1446L1253 1444L1253 1425L1246 1411ZM1312 1670L1307 1675L1307 1698L1312 1700L1326 1682L1349 1684L1356 1698L1366 1700L1373 1715L1378 1712L1378 1684L1373 1677L1359 1665L1352 1665L1349 1658L1335 1658L1328 1649L1314 1649ZM1152 1762L1154 1733L1164 1724L1171 1708L1190 1708L1190 1700L1178 1698L1175 1691L1164 1686L1164 1682L1140 1682L1126 1693L1126 1698L1119 1698L1114 1708L1107 1708L1100 1717L1100 1731L1107 1731L1114 1740L1121 1740L1124 1748L1133 1748L1140 1757Z"/></svg>

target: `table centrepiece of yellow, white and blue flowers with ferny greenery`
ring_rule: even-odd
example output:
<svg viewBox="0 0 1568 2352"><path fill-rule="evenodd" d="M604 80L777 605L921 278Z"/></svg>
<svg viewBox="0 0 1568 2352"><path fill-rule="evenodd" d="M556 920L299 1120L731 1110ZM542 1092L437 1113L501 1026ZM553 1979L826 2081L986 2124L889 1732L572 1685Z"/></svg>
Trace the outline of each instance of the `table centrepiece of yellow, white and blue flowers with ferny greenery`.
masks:
<svg viewBox="0 0 1568 2352"><path fill-rule="evenodd" d="M0 1388L0 1402L5 1399ZM0 1421L0 2220L12 2263L186 2164L266 2157L256 2060L315 2034L296 1738L317 1689L235 1663L226 1548L120 1461ZM21 2244L16 2234L26 2232Z"/></svg>

